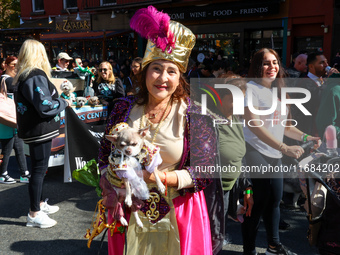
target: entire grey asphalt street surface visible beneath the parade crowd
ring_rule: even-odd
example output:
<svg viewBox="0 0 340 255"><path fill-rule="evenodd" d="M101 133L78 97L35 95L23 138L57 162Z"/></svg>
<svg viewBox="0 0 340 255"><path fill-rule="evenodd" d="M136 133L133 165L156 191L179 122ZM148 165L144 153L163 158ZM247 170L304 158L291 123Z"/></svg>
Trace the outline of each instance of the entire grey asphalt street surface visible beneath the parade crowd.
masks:
<svg viewBox="0 0 340 255"><path fill-rule="evenodd" d="M15 157L11 157L9 173L18 180ZM90 227L98 201L94 188L79 182L63 183L61 167L49 169L45 178L44 197L50 204L60 207L59 212L51 218L58 224L50 229L26 227L26 216L29 208L27 184L0 184L0 254L97 254L102 235L87 248L84 238ZM280 231L281 241L299 255L317 254L316 249L308 245L306 239L307 220L305 213L299 210L282 209L282 218L291 228ZM241 255L241 225L229 221L228 233L232 244L223 248L223 254ZM266 248L265 231L261 224L257 238L258 252ZM107 241L104 239L100 254L107 254ZM171 254L172 255L172 254Z"/></svg>

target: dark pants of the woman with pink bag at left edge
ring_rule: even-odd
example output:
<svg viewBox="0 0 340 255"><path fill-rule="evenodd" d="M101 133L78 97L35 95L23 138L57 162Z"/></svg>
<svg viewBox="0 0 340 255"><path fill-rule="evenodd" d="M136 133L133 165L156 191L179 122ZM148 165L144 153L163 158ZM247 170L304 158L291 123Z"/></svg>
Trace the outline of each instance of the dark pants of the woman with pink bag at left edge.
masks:
<svg viewBox="0 0 340 255"><path fill-rule="evenodd" d="M15 157L17 159L20 175L24 175L27 171L27 162L24 153L24 142L22 139L15 134L10 139L1 139L1 148L4 158L2 159L2 164L0 166L0 173L3 174L7 171L9 159L11 157L12 149L15 151Z"/></svg>

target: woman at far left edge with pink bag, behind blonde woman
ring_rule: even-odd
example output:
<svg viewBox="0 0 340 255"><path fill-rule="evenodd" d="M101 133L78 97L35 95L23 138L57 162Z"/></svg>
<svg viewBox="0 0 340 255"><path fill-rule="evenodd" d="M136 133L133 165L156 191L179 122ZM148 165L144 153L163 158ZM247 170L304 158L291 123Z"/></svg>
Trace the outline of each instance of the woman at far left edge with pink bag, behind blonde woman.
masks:
<svg viewBox="0 0 340 255"><path fill-rule="evenodd" d="M7 94L13 98L13 93L15 91L15 86L13 86L13 77L16 75L16 65L18 59L14 56L9 56L5 60L5 73L1 76L0 84L6 86ZM16 181L8 175L8 163L11 156L12 149L14 149L15 157L18 162L20 170L20 182L28 183L29 181L29 171L27 168L27 162L24 152L24 142L18 137L18 132L16 128L11 128L0 124L0 141L3 154L3 163L0 166L0 183L12 184Z"/></svg>

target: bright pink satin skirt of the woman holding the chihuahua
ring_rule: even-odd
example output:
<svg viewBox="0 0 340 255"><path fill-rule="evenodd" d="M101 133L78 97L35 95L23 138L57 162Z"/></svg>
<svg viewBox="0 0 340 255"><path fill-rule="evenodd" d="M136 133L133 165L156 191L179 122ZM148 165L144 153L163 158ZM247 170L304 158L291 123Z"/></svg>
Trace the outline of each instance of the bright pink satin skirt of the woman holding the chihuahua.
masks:
<svg viewBox="0 0 340 255"><path fill-rule="evenodd" d="M181 255L212 254L210 222L203 191L187 193L172 200L180 238ZM126 215L128 219L129 216ZM108 213L108 223L113 222ZM108 232L109 233L109 232ZM125 234L108 234L109 255L124 254Z"/></svg>

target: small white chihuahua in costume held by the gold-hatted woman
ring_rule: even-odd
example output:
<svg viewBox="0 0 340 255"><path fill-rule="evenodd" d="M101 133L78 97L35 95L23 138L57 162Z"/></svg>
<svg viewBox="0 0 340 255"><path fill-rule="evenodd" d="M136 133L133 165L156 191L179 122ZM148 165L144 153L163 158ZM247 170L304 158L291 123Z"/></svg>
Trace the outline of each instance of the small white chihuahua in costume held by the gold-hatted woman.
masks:
<svg viewBox="0 0 340 255"><path fill-rule="evenodd" d="M164 194L165 186L158 176L157 167L162 163L159 148L146 141L144 137L149 132L149 127L135 130L127 123L119 123L112 128L111 135L106 135L114 145L114 151L109 156L110 171L124 181L125 190L116 189L117 193L125 197L125 203L131 207L132 194L141 200L149 198L149 190L143 180L142 165L149 173L154 173L158 190ZM151 149L151 150L150 150ZM150 154L153 155L150 155ZM137 211L133 212L137 225L143 228L143 223L138 217ZM127 226L127 221L121 217L122 225Z"/></svg>

